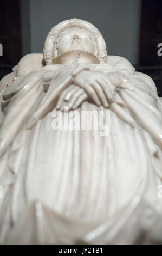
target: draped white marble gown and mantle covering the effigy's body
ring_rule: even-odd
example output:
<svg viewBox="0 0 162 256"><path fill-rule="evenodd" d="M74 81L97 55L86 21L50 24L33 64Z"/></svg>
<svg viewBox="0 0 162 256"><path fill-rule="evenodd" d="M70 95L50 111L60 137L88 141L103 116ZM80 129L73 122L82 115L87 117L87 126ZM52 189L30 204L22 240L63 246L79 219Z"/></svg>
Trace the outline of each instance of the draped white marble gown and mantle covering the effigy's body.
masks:
<svg viewBox="0 0 162 256"><path fill-rule="evenodd" d="M125 69L88 67L105 74ZM150 77L129 70L133 89L116 95L135 127L109 110L107 136L94 129L53 130L54 107L28 129L60 81L57 75L44 93L42 76L73 68L46 66L1 93L1 243L162 242L162 115ZM87 100L77 110L104 108Z"/></svg>

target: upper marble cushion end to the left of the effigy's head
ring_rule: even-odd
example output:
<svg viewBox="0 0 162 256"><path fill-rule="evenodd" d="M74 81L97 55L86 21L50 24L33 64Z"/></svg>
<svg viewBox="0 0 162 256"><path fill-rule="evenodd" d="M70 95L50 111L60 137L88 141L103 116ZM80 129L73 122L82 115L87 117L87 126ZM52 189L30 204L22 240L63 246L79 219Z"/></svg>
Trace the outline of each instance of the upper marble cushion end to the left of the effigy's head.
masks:
<svg viewBox="0 0 162 256"><path fill-rule="evenodd" d="M45 65L42 53L25 55L17 65L16 77L27 75L31 71L39 71Z"/></svg>

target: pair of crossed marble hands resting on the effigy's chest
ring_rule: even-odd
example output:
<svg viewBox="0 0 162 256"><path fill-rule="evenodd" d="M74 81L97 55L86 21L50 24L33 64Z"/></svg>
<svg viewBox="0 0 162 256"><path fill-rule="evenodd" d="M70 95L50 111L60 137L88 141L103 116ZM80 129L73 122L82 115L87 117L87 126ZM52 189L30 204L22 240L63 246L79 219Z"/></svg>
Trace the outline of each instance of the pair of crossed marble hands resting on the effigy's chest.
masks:
<svg viewBox="0 0 162 256"><path fill-rule="evenodd" d="M57 109L75 109L91 97L97 106L102 105L108 108L115 101L116 91L121 86L125 76L111 73L109 75L103 72L92 72L83 70L74 78L72 85L66 88L60 95L57 102Z"/></svg>

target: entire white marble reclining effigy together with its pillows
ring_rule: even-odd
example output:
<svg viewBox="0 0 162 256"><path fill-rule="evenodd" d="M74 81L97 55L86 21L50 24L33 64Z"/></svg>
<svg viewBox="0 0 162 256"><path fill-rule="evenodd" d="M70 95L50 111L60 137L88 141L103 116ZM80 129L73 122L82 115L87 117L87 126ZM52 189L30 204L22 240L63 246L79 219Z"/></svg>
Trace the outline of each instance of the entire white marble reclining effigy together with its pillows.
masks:
<svg viewBox="0 0 162 256"><path fill-rule="evenodd" d="M71 19L0 88L1 243L162 242L162 105L150 77ZM109 113L109 132L96 118L90 130L54 129L67 107L76 123Z"/></svg>

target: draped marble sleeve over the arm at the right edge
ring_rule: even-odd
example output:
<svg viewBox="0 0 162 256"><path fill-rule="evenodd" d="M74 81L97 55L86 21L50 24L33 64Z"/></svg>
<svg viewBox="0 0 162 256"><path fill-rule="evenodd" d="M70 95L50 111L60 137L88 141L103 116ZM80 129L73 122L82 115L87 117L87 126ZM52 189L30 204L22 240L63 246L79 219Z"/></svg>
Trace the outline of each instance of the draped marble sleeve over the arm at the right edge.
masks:
<svg viewBox="0 0 162 256"><path fill-rule="evenodd" d="M154 85L146 80L148 78L144 79L144 74L129 76L128 81L124 83L128 89L121 89L120 96L136 123L150 133L154 142L162 149L162 113L159 97Z"/></svg>

